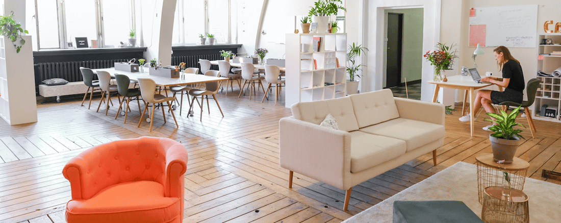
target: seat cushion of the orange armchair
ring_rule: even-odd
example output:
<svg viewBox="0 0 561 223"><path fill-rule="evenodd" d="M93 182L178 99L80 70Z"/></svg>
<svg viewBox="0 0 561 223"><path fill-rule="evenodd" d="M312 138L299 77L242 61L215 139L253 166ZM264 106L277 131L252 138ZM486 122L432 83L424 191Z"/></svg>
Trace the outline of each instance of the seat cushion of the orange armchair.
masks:
<svg viewBox="0 0 561 223"><path fill-rule="evenodd" d="M87 200L68 201L66 220L107 222L108 219L121 219L126 222L169 222L180 217L180 205L179 198L164 197L162 184L155 181L132 181L109 186Z"/></svg>

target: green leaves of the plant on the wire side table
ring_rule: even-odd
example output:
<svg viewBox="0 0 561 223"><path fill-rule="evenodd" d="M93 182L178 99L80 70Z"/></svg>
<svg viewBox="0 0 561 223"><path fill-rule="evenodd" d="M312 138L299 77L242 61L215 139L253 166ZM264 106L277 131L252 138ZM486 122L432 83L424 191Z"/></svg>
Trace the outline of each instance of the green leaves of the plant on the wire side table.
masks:
<svg viewBox="0 0 561 223"><path fill-rule="evenodd" d="M489 128L489 130L495 132L491 134L491 136L495 138L511 139L513 135L516 135L524 139L522 135L518 134L521 133L522 130L513 128L515 125L519 125L526 128L526 126L516 122L516 117L518 116L519 110L520 110L520 106L514 108L514 110L512 110L512 112L509 114L507 114L507 112L504 112L503 110L500 110L500 115L488 112L487 115L493 117L493 119L495 120L490 120L490 119L485 119L485 120L493 121L496 124L498 124L498 125L493 125Z"/></svg>

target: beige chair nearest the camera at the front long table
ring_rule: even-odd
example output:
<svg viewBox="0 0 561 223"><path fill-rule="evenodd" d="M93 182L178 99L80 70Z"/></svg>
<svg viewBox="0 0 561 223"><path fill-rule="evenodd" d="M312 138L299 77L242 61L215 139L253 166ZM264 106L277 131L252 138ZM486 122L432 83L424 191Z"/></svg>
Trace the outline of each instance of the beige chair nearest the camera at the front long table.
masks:
<svg viewBox="0 0 561 223"><path fill-rule="evenodd" d="M172 106L169 103L170 101L173 101L174 98L165 97L162 94L156 94L155 93L156 83L152 79L139 78L139 85L140 85L140 94L142 95L142 99L144 99L144 101L146 102L146 106L144 107L144 111L142 111L142 115L140 116L138 127L140 128L140 124L142 124L142 119L144 119L144 113L146 113L146 109L148 108L148 105L150 103L152 103L152 113L150 116L150 132L152 132L152 125L154 124L154 108L157 104L160 104L160 106L162 106L162 115L164 116L164 124L165 124L165 112L162 103L167 102L168 107L172 112L173 121L176 122L176 126L177 128L179 128L179 125L177 124L177 120L175 119L175 115L173 115L173 110L171 110Z"/></svg>

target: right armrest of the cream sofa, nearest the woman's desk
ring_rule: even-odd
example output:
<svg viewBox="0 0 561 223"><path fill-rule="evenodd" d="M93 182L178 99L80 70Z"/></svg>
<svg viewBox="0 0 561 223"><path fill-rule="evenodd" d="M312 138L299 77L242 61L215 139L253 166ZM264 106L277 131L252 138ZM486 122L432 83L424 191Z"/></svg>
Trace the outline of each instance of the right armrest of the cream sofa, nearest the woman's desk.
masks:
<svg viewBox="0 0 561 223"><path fill-rule="evenodd" d="M399 117L444 125L444 104L424 102L406 98L394 98Z"/></svg>

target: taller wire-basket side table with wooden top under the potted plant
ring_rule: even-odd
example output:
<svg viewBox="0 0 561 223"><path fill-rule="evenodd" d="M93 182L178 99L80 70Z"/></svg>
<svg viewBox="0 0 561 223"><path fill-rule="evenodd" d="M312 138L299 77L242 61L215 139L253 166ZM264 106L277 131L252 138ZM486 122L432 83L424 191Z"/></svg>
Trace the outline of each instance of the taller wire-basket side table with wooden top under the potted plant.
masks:
<svg viewBox="0 0 561 223"><path fill-rule="evenodd" d="M511 164L499 164L493 161L492 153L481 154L475 157L475 160L477 160L477 195L479 195L479 203L483 204L485 188L501 186L503 184L503 168L511 178L511 188L521 191L524 189L524 182L526 181L526 174L530 163L521 158L514 157Z"/></svg>

